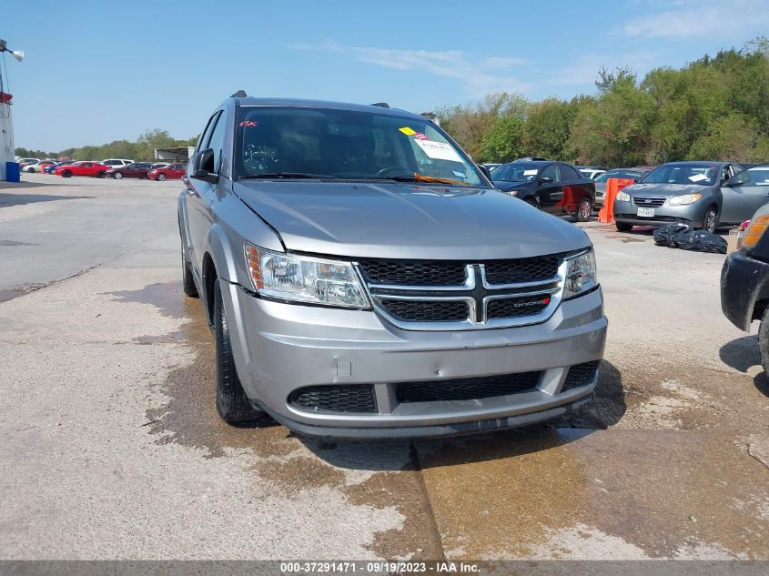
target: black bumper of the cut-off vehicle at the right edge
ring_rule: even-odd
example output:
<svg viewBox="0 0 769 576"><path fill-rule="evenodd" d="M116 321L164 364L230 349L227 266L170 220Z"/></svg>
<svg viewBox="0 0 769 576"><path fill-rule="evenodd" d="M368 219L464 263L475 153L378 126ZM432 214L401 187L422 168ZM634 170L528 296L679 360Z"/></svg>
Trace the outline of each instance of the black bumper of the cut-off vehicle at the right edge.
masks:
<svg viewBox="0 0 769 576"><path fill-rule="evenodd" d="M721 269L721 309L737 328L750 330L755 302L769 296L769 264L734 252Z"/></svg>

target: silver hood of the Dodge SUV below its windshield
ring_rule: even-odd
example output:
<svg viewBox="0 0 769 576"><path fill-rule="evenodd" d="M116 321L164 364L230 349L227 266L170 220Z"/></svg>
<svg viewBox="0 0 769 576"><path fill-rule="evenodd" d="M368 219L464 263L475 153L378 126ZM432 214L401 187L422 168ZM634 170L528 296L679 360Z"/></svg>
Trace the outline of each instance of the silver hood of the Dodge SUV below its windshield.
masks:
<svg viewBox="0 0 769 576"><path fill-rule="evenodd" d="M578 227L492 189L243 181L288 250L349 258L523 258L590 246Z"/></svg>

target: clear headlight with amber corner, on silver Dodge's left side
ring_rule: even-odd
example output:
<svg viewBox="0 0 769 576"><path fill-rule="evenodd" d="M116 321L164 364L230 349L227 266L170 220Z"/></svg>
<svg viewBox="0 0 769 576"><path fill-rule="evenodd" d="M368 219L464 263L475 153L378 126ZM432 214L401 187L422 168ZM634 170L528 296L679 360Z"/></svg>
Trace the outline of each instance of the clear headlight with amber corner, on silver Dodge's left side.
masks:
<svg viewBox="0 0 769 576"><path fill-rule="evenodd" d="M263 296L369 308L369 300L349 262L281 254L247 243L246 263L251 284Z"/></svg>

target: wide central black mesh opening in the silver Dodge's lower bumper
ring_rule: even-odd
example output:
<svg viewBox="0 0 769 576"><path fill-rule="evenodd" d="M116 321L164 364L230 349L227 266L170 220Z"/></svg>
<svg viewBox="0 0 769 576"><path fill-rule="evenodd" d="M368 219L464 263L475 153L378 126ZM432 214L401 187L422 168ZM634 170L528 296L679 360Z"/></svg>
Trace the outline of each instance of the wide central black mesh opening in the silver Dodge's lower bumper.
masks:
<svg viewBox="0 0 769 576"><path fill-rule="evenodd" d="M440 400L471 400L493 398L529 392L535 389L540 372L519 372L481 378L428 380L396 384L399 402L435 402Z"/></svg>

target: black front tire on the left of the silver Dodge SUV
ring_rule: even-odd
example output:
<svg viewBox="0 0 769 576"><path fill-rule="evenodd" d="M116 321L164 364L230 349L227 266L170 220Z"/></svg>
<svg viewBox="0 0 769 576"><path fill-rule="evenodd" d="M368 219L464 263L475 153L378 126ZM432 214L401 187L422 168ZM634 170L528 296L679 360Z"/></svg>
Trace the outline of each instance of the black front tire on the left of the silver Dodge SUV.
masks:
<svg viewBox="0 0 769 576"><path fill-rule="evenodd" d="M264 412L255 409L243 391L232 357L229 328L222 305L218 279L214 281L214 336L217 349L217 411L226 422L258 419Z"/></svg>

